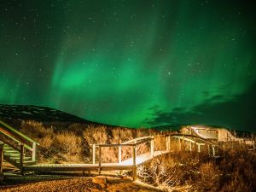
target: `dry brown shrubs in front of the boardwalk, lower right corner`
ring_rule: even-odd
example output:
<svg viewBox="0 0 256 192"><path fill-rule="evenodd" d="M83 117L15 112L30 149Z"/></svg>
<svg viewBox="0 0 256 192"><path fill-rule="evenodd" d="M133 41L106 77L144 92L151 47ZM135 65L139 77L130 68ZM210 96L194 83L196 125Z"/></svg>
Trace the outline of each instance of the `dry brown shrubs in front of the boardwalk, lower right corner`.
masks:
<svg viewBox="0 0 256 192"><path fill-rule="evenodd" d="M207 153L177 151L139 169L141 179L168 191L190 186L191 191L253 192L255 172L256 154L247 150L224 150L218 158Z"/></svg>

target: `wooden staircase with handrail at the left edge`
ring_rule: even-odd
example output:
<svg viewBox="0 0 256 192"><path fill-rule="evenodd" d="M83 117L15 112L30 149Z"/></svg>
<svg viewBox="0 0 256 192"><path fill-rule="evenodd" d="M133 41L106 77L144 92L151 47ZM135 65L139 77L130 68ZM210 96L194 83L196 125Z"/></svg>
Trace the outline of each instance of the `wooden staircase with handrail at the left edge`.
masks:
<svg viewBox="0 0 256 192"><path fill-rule="evenodd" d="M24 166L37 164L38 143L0 119L0 174L3 160L23 171Z"/></svg>

